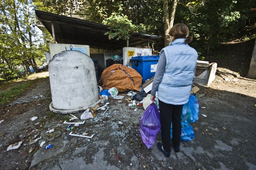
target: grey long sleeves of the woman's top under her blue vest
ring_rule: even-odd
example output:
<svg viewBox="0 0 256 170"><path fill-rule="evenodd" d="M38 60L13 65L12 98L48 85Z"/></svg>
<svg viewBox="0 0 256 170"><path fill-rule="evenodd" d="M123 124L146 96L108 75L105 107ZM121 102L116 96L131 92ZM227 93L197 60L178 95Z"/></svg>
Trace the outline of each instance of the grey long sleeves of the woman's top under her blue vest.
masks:
<svg viewBox="0 0 256 170"><path fill-rule="evenodd" d="M165 53L163 52L160 55L160 58L159 58L158 63L157 63L157 71L155 73L154 82L153 82L153 85L152 85L152 88L151 88L151 96L155 96L156 95L157 88L158 88L160 82L163 79L163 74L164 74L164 71L165 71L165 66L166 66L166 57L165 57ZM196 72L196 68L194 70L194 75L195 75L195 72ZM194 79L195 79L195 76L194 76ZM194 84L194 79L193 79L193 82L192 82L192 85L191 85L191 89L192 89L193 84Z"/></svg>

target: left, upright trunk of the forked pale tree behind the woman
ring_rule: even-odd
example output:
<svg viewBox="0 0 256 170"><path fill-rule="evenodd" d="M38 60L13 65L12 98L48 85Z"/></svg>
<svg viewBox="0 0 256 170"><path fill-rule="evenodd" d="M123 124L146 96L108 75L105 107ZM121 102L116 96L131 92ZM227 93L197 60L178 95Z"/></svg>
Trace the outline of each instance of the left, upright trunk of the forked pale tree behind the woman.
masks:
<svg viewBox="0 0 256 170"><path fill-rule="evenodd" d="M164 46L168 46L169 39L169 10L168 0L163 0L163 20L164 20Z"/></svg>

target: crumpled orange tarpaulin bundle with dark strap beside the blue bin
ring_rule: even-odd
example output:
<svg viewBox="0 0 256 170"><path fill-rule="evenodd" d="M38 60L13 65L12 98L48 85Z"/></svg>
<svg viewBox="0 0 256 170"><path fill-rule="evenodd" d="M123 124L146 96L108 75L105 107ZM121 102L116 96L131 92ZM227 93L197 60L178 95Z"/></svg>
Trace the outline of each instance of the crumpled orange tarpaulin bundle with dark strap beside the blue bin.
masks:
<svg viewBox="0 0 256 170"><path fill-rule="evenodd" d="M119 92L130 90L140 91L142 76L134 69L122 64L113 64L106 68L100 77L102 88L117 88Z"/></svg>

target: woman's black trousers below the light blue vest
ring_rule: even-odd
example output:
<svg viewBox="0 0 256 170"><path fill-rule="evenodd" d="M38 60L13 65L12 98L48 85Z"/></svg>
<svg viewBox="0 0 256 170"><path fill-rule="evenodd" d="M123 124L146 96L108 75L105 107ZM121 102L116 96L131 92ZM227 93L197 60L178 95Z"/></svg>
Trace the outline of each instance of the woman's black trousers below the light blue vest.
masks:
<svg viewBox="0 0 256 170"><path fill-rule="evenodd" d="M162 143L166 152L171 152L171 124L173 145L175 147L180 146L182 107L183 105L167 104L159 100Z"/></svg>

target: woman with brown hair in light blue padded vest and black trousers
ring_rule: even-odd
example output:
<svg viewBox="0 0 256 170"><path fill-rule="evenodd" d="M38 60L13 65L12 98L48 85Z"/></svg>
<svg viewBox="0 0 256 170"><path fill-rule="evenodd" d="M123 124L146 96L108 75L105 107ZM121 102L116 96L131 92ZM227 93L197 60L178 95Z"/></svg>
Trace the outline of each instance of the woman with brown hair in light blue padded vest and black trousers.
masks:
<svg viewBox="0 0 256 170"><path fill-rule="evenodd" d="M166 157L171 152L180 151L181 142L181 112L182 106L188 102L194 83L197 65L197 51L188 43L192 41L185 24L175 24L170 29L170 44L160 52L157 71L151 89L151 101L155 99L156 91L159 100L160 119L162 123L162 143L157 148Z"/></svg>

